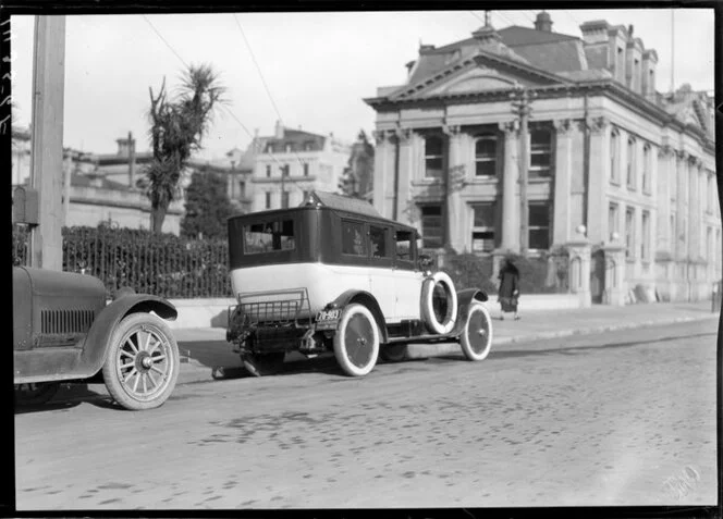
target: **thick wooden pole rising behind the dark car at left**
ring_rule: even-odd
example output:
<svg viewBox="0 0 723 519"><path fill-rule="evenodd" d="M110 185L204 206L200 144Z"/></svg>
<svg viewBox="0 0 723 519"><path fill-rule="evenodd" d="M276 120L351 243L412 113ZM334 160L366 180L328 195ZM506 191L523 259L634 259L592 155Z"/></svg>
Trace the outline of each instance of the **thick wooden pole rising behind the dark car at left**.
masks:
<svg viewBox="0 0 723 519"><path fill-rule="evenodd" d="M35 17L30 185L39 223L30 232L30 267L63 269L63 94L65 16Z"/></svg>

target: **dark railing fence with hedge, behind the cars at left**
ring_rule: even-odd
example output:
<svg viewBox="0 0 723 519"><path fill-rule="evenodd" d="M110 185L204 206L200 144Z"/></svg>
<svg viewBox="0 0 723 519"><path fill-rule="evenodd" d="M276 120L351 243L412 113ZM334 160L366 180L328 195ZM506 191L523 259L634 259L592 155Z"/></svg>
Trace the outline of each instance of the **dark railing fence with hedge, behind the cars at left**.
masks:
<svg viewBox="0 0 723 519"><path fill-rule="evenodd" d="M13 231L13 264L27 264L28 234ZM231 297L224 239L147 231L64 227L63 270L94 275L109 297L124 286L166 298Z"/></svg>

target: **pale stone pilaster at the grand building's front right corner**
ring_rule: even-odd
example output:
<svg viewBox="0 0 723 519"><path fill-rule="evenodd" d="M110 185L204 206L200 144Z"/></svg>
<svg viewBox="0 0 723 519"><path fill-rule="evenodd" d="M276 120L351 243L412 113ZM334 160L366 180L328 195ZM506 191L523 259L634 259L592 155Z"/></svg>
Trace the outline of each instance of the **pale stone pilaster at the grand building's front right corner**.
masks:
<svg viewBox="0 0 723 519"><path fill-rule="evenodd" d="M587 236L593 243L608 242L605 190L610 182L610 124L605 118L588 118L590 129L590 175L588 191Z"/></svg>

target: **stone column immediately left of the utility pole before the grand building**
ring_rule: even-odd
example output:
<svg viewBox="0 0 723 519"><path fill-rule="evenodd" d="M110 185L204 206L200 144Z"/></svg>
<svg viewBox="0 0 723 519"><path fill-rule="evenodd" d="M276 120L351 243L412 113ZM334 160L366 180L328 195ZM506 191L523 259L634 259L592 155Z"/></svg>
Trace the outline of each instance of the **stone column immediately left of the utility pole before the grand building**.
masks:
<svg viewBox="0 0 723 519"><path fill-rule="evenodd" d="M519 172L517 157L519 126L517 121L500 123L504 132L504 172L502 176L502 239L500 249L519 252Z"/></svg>

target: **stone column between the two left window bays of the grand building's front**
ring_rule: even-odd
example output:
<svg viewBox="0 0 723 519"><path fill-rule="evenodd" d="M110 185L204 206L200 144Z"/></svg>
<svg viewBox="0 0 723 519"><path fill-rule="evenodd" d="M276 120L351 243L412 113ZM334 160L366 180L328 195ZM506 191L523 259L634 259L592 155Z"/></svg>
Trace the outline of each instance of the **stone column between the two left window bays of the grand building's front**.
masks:
<svg viewBox="0 0 723 519"><path fill-rule="evenodd" d="M462 252L465 245L465 236L462 235L464 225L461 225L464 218L464 207L462 202L461 188L464 186L465 163L462 157L462 134L459 126L442 126L444 134L449 138L449 160L446 163L446 233L448 243L457 252Z"/></svg>

